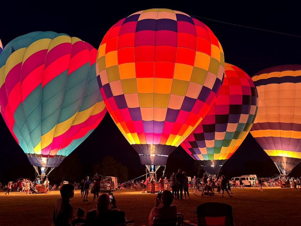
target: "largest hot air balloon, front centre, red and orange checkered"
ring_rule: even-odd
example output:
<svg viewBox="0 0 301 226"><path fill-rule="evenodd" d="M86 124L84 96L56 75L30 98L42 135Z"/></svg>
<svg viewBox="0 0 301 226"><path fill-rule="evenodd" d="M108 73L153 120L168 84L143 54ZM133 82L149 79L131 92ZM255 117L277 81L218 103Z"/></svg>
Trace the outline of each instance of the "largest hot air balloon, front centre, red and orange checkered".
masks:
<svg viewBox="0 0 301 226"><path fill-rule="evenodd" d="M149 9L113 25L98 52L113 121L142 165L166 165L215 101L224 73L218 39L188 14Z"/></svg>

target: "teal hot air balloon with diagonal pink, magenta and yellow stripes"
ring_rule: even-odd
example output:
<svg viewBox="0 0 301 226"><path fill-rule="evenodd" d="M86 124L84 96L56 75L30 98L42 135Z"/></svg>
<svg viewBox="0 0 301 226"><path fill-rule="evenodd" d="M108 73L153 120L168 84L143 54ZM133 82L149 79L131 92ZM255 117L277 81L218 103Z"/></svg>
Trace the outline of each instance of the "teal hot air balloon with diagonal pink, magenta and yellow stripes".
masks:
<svg viewBox="0 0 301 226"><path fill-rule="evenodd" d="M96 55L87 42L55 32L19 36L0 55L1 114L38 173L57 167L106 113Z"/></svg>

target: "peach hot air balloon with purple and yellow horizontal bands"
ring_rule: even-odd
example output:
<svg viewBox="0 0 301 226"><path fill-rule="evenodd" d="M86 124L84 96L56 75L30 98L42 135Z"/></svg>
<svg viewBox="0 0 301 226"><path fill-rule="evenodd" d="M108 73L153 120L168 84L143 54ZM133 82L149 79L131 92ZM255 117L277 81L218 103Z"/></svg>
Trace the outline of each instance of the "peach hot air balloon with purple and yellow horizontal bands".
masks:
<svg viewBox="0 0 301 226"><path fill-rule="evenodd" d="M301 161L301 65L281 65L256 73L252 80L259 105L250 133L289 174Z"/></svg>

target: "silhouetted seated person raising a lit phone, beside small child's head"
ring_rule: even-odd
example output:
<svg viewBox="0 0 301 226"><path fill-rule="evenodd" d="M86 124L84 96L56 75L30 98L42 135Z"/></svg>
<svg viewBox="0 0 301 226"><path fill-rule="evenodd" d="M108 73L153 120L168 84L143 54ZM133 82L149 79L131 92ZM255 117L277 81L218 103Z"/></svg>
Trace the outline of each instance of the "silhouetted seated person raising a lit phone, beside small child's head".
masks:
<svg viewBox="0 0 301 226"><path fill-rule="evenodd" d="M92 209L87 213L86 226L102 225L106 221L113 221L114 212L119 211L114 196L112 198L112 206L110 207L110 197L107 193L103 193L98 197L96 206L97 209Z"/></svg>

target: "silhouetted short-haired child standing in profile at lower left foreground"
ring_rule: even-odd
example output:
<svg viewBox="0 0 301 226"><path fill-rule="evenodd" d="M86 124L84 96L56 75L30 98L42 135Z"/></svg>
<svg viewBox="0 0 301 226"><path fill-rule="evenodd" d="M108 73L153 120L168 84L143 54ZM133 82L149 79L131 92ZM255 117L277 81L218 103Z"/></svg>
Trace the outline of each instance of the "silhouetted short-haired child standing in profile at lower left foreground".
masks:
<svg viewBox="0 0 301 226"><path fill-rule="evenodd" d="M52 226L72 226L70 220L73 216L73 208L70 199L74 196L74 185L64 184L60 188L61 198L57 199L54 206Z"/></svg>

